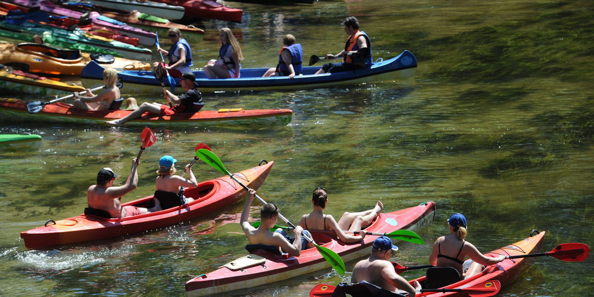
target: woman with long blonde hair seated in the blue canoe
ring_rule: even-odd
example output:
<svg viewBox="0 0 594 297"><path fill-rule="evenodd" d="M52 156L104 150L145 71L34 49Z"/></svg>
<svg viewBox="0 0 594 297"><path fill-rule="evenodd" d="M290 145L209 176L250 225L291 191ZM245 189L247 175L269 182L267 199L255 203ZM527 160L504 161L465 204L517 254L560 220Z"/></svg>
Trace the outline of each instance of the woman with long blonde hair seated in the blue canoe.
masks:
<svg viewBox="0 0 594 297"><path fill-rule="evenodd" d="M239 69L244 55L241 53L237 39L233 36L231 29L223 28L219 30L219 40L221 42L219 58L208 61L208 65L204 66L204 74L208 78L239 78Z"/></svg>

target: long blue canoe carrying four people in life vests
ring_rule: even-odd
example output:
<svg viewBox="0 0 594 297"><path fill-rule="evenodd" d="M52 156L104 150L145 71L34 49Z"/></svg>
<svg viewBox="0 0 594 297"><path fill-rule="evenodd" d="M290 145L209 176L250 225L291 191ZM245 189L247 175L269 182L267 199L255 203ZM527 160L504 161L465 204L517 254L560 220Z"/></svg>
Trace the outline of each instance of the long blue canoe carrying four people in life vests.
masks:
<svg viewBox="0 0 594 297"><path fill-rule="evenodd" d="M87 88L102 86L103 67L91 61L83 68L81 81ZM289 77L262 77L268 68L241 69L240 78L208 79L204 71L194 71L198 89L201 92L214 91L263 91L263 90L297 90L319 87L334 87L340 85L355 85L361 83L377 83L379 81L395 81L399 78L410 77L416 70L415 56L405 50L395 58L375 61L369 68L355 71L327 73L314 75L320 67L304 67L303 74L291 79ZM154 78L152 71L128 71L118 69L118 77L122 78L124 87L121 92L126 94L162 94L163 88L159 80ZM168 81L165 78L165 85ZM176 79L176 86L183 91ZM168 86L169 87L169 86Z"/></svg>

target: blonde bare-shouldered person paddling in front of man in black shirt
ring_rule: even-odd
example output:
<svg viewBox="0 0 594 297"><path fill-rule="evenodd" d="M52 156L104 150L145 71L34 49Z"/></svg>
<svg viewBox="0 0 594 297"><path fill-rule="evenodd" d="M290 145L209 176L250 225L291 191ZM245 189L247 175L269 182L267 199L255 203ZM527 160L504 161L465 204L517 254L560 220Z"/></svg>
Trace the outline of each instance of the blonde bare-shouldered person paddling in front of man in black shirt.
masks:
<svg viewBox="0 0 594 297"><path fill-rule="evenodd" d="M86 110L119 109L124 99L121 99L119 89L115 85L117 80L118 72L113 68L105 68L103 70L105 89L96 95L90 89L87 89L86 96L80 96L78 92L74 92L74 108Z"/></svg>

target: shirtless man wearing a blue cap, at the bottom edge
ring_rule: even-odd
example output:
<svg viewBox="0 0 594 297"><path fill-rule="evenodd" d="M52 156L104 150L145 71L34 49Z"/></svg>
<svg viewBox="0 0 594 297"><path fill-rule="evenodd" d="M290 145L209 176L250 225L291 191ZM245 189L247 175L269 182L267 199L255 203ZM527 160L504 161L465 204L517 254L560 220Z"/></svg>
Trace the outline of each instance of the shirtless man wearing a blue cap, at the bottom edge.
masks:
<svg viewBox="0 0 594 297"><path fill-rule="evenodd" d="M387 236L380 236L373 242L371 255L365 260L359 261L353 267L353 275L350 283L366 281L382 289L396 292L397 289L408 292L409 297L416 295L415 288L399 276L390 262L390 255L398 250ZM415 282L416 289L421 289L421 284Z"/></svg>

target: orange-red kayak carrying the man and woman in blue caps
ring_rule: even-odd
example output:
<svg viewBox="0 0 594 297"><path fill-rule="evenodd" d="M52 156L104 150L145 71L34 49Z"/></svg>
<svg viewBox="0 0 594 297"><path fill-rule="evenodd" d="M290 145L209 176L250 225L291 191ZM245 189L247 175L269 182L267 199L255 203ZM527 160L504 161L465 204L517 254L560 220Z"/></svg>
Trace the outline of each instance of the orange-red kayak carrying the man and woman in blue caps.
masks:
<svg viewBox="0 0 594 297"><path fill-rule="evenodd" d="M533 254L539 252L542 247L542 242L544 240L545 232L537 233L529 238L523 239L522 241L518 241L514 244L507 245L503 248L495 249L494 251L488 252L485 255L487 257L498 257L500 255L525 255L525 254ZM481 273L476 274L468 279L462 280L457 283L453 283L449 286L445 286L444 289L456 289L459 287L471 287L473 285L477 285L482 282L487 282L489 280L498 280L501 283L501 287L508 285L511 283L516 277L522 274L527 268L534 264L535 258L528 257L528 258L517 258L517 259L507 259L498 264L488 266L485 270L481 271ZM419 282L423 282L426 280L426 277L420 277L416 279ZM415 280L410 281L412 285ZM467 293L465 292L425 292L425 293L417 293L416 296L430 296L430 297L467 297Z"/></svg>

